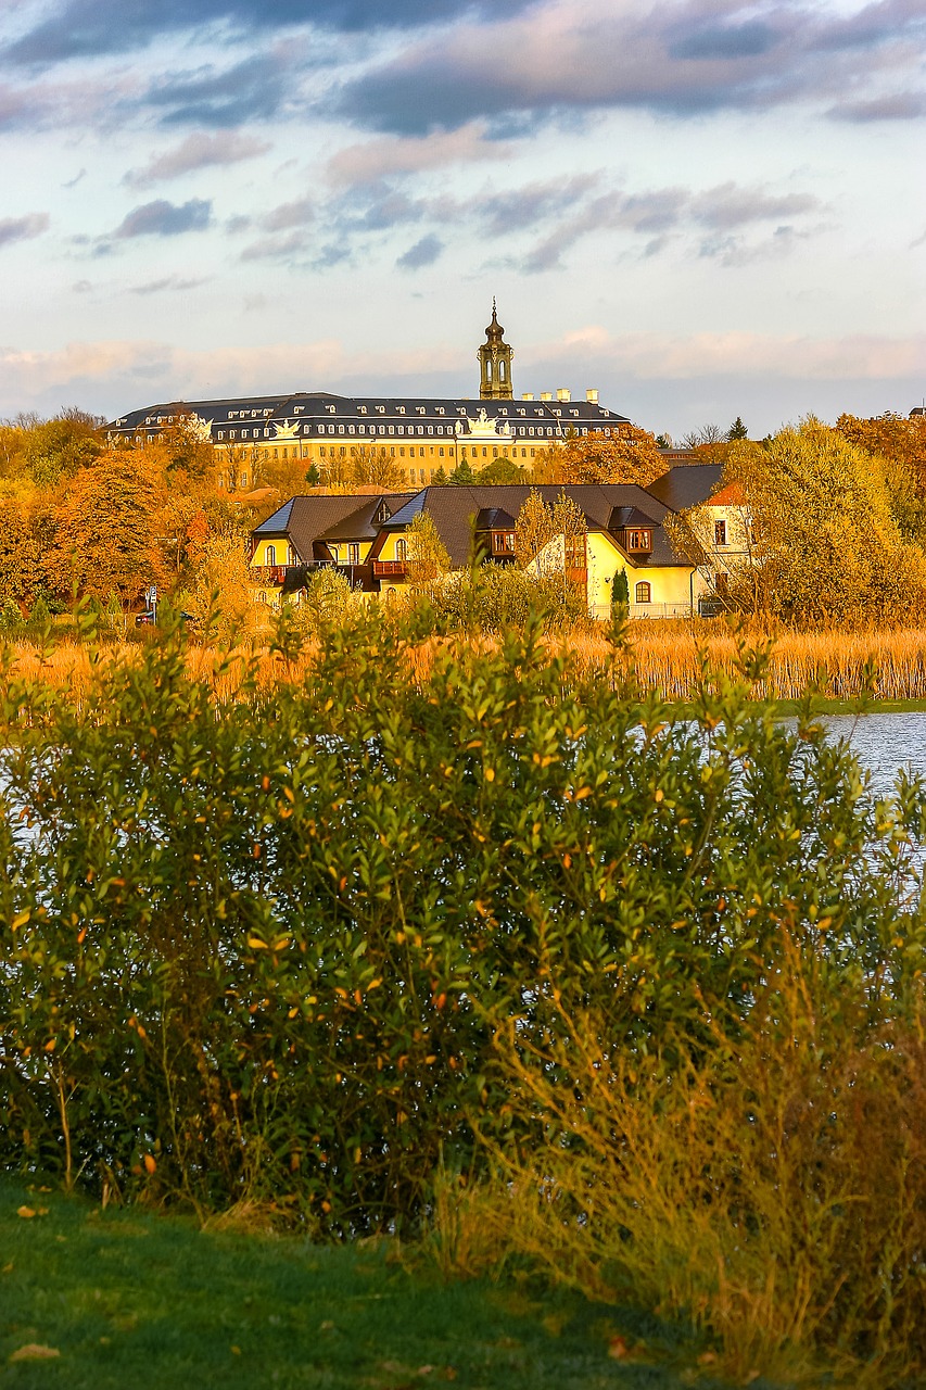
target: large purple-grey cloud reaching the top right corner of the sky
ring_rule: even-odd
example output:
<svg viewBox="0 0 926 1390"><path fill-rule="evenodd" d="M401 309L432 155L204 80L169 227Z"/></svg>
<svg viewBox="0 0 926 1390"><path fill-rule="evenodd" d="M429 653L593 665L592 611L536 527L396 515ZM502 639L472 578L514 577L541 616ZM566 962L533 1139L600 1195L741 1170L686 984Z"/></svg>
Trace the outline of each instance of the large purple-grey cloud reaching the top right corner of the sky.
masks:
<svg viewBox="0 0 926 1390"><path fill-rule="evenodd" d="M741 18L742 8L737 0L599 0L580 19L570 0L546 0L491 26L460 22L425 36L345 82L334 106L357 125L405 138L480 120L513 133L527 122L527 133L566 113L627 107L684 118L819 106L848 88L863 93L884 71L922 81L920 0L884 0L848 18L809 0L772 3L763 19Z"/></svg>

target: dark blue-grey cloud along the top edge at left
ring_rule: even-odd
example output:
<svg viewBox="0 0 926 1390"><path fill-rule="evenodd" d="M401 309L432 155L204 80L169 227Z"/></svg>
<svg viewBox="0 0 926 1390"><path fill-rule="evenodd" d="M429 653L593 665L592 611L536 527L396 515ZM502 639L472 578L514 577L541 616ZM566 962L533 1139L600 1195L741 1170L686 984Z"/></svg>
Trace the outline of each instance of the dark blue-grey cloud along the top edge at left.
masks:
<svg viewBox="0 0 926 1390"><path fill-rule="evenodd" d="M49 65L75 57L131 53L178 31L228 26L238 32L304 28L342 33L413 29L460 15L512 15L530 0L71 0L7 46L14 63Z"/></svg>

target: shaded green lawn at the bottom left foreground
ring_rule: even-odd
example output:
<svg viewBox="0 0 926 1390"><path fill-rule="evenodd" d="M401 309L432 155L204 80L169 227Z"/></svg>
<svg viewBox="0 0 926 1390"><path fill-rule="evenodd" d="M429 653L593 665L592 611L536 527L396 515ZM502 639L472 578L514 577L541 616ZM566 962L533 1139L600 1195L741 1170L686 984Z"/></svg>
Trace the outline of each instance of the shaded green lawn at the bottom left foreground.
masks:
<svg viewBox="0 0 926 1390"><path fill-rule="evenodd" d="M17 1215L21 1205L36 1212ZM39 1215L40 1209L47 1211ZM0 1386L15 1390L681 1390L655 1318L516 1280L441 1284L389 1241L320 1247L0 1180ZM622 1334L633 1361L609 1355ZM11 1361L28 1344L53 1359ZM759 1390L761 1382L755 1382Z"/></svg>

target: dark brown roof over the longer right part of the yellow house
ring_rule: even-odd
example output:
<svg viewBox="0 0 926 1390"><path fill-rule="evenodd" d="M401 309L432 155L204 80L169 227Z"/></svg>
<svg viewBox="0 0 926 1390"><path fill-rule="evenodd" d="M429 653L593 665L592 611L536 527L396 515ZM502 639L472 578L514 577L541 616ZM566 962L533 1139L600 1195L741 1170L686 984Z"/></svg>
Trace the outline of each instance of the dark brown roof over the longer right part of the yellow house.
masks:
<svg viewBox="0 0 926 1390"><path fill-rule="evenodd" d="M539 492L544 500L552 506L560 493L566 492L583 510L591 531L608 531L615 507L628 507L638 510L645 521L653 527L653 549L647 557L647 564L680 564L669 548L669 542L662 531L662 518L669 510L656 498L651 498L635 484L605 482L580 484L563 486L562 484L544 484L530 486L526 484L510 484L506 486L470 486L470 488L424 488L400 507L382 530L403 530L421 510L427 510L434 517L434 524L444 541L455 567L466 564L470 553L470 517L478 516L488 509L507 512L517 517L530 492ZM634 560L634 564L640 564Z"/></svg>

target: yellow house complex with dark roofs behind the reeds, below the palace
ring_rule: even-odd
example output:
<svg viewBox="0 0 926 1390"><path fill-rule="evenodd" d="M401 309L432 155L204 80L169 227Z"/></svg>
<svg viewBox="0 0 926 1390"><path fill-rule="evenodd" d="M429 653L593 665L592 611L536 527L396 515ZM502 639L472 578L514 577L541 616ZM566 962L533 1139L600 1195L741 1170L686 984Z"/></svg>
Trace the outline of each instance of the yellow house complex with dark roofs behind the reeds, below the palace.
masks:
<svg viewBox="0 0 926 1390"><path fill-rule="evenodd" d="M292 498L252 532L252 581L256 596L277 606L296 596L320 567L335 567L355 588L387 594L407 582L407 530L425 512L455 570L471 560L473 542L484 563L514 559L517 517L531 491L552 506L564 492L585 518L585 534L551 542L551 566L569 571L585 595L592 617L610 612L615 574L623 570L631 617L681 617L699 612L723 591L726 573L747 563L741 543L742 507L734 488L723 486L720 464L676 467L649 488L633 484L506 486L427 486L413 496ZM663 521L670 513L706 509L709 556L704 564L677 555Z"/></svg>

